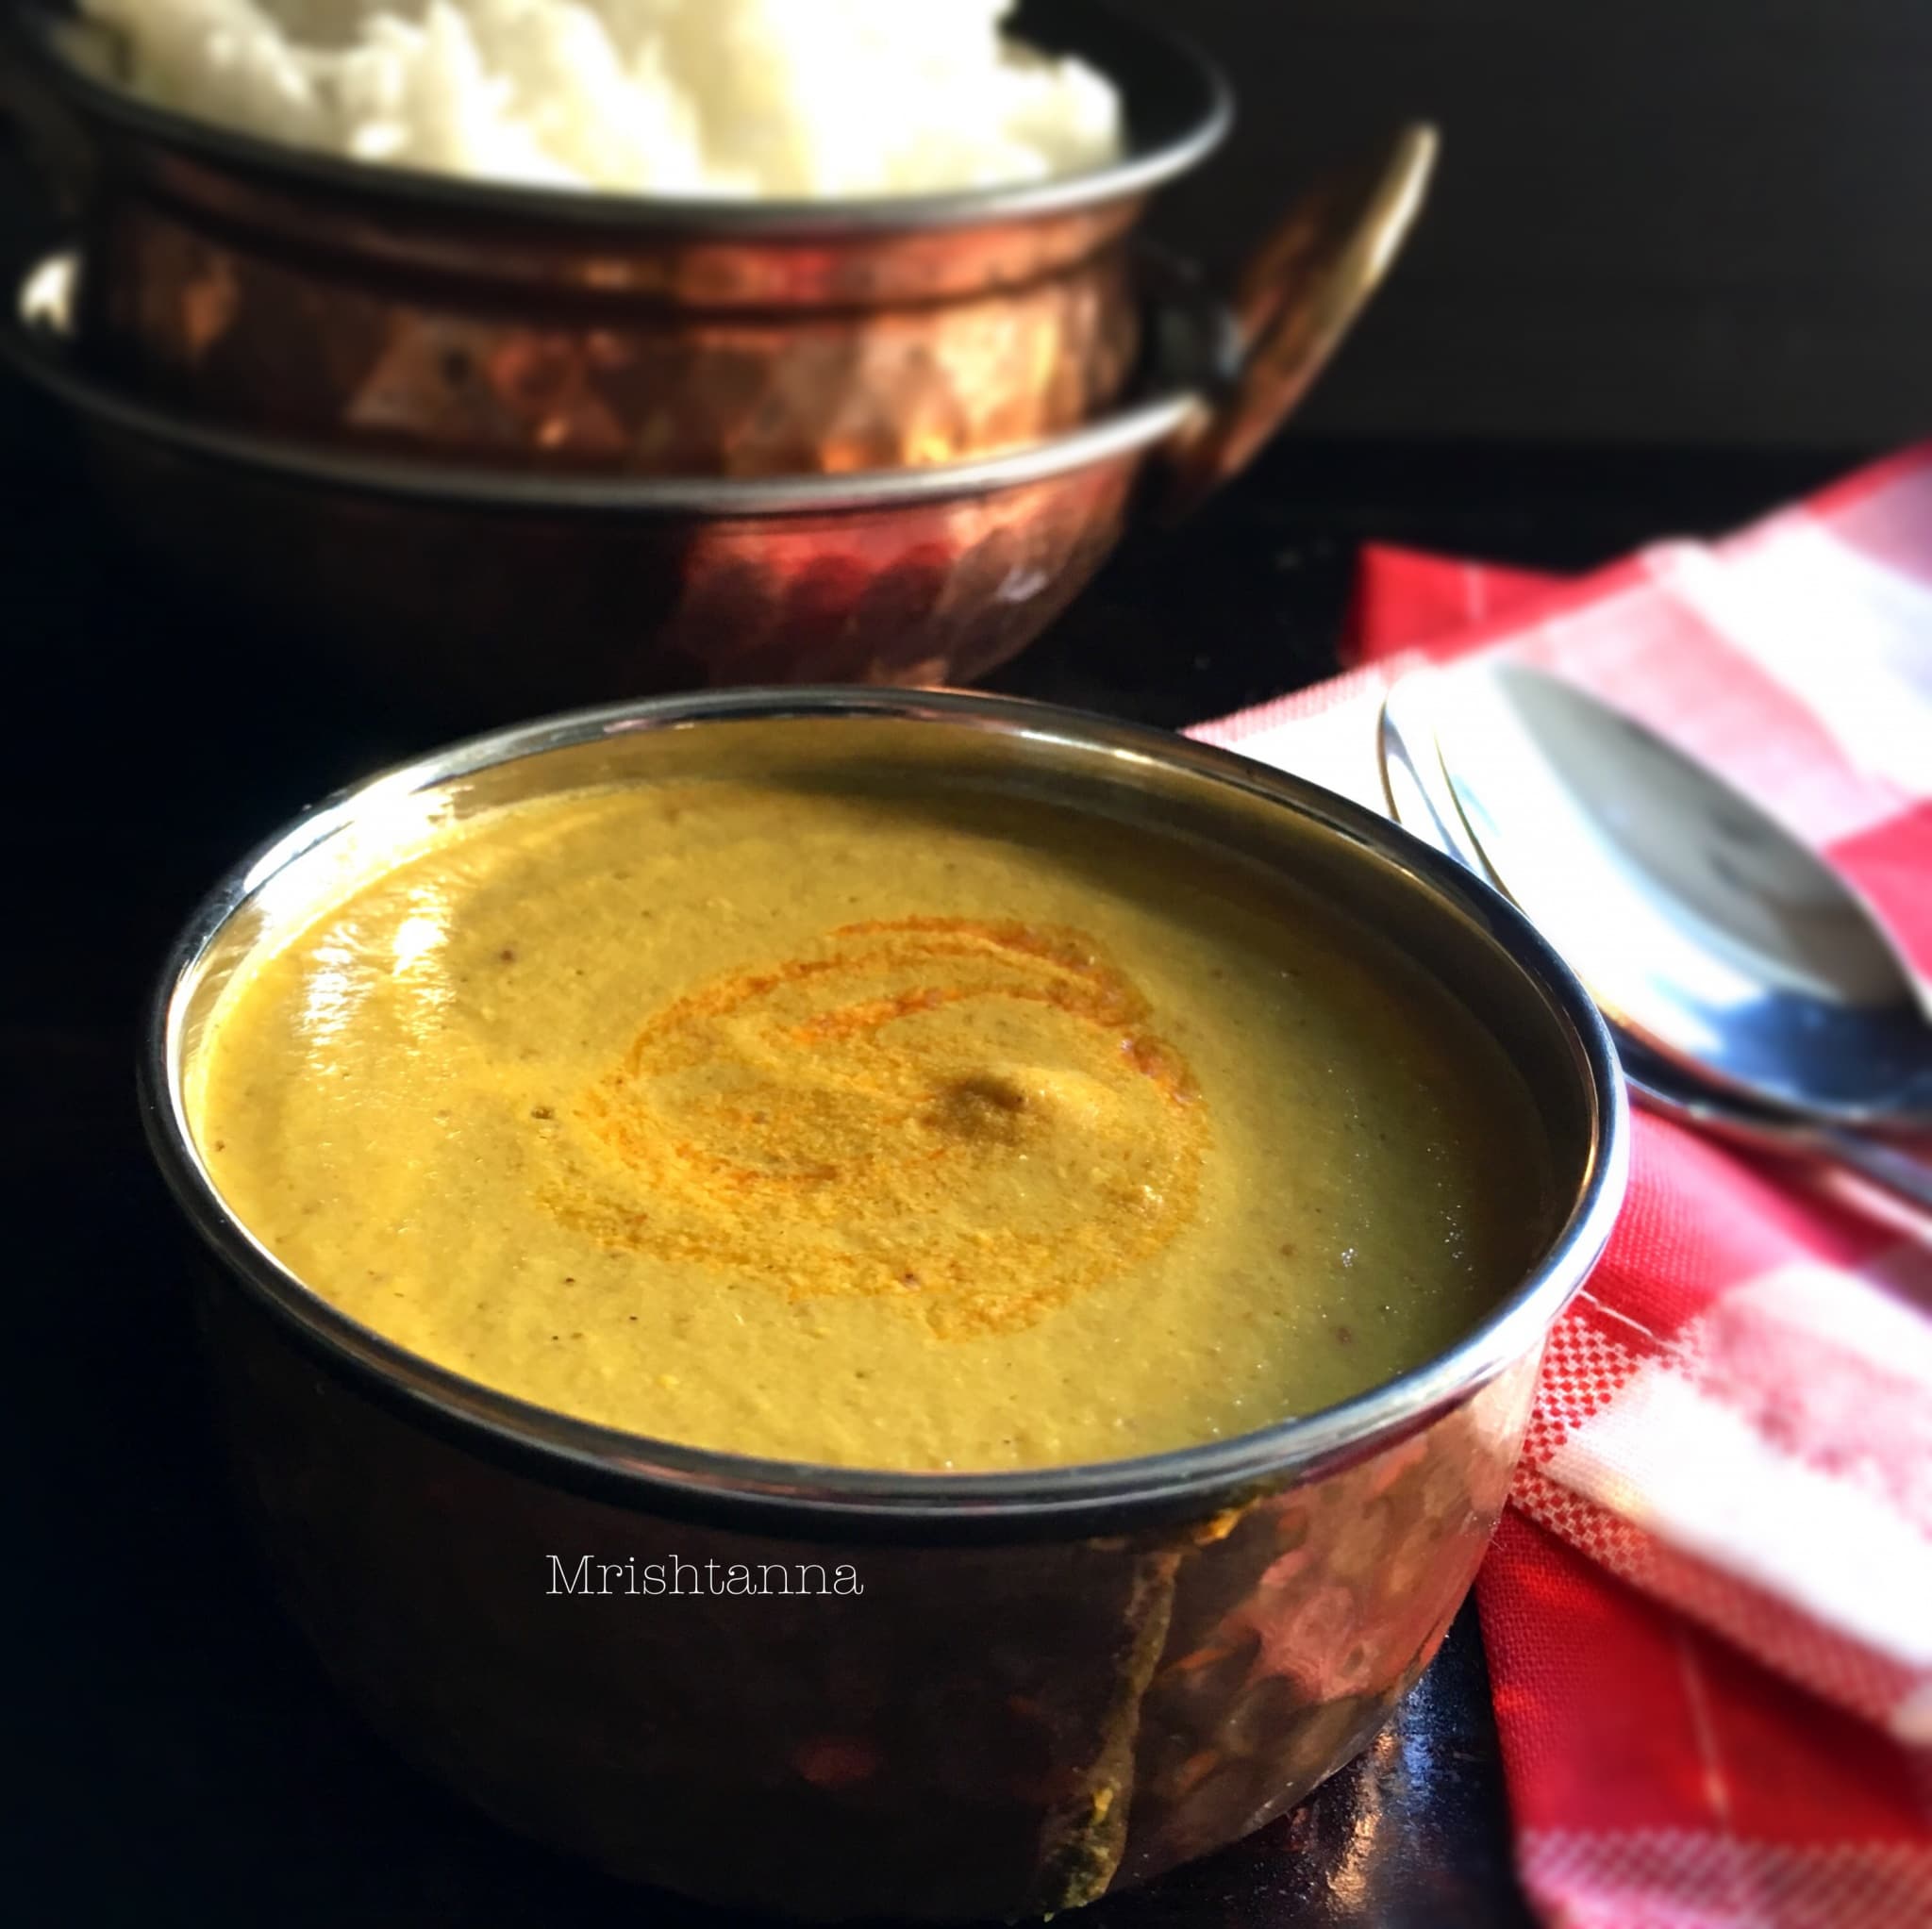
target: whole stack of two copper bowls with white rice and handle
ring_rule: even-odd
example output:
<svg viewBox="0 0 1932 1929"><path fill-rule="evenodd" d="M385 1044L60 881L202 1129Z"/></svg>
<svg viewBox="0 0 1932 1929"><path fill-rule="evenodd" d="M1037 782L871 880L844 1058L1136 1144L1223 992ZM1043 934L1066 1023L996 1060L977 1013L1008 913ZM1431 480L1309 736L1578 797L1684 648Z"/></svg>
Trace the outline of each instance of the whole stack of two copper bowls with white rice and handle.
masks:
<svg viewBox="0 0 1932 1929"><path fill-rule="evenodd" d="M1275 433L1435 156L1221 295L1132 230L1227 91L1101 0L81 4L0 31L66 222L0 359L151 560L452 728L983 676Z"/></svg>

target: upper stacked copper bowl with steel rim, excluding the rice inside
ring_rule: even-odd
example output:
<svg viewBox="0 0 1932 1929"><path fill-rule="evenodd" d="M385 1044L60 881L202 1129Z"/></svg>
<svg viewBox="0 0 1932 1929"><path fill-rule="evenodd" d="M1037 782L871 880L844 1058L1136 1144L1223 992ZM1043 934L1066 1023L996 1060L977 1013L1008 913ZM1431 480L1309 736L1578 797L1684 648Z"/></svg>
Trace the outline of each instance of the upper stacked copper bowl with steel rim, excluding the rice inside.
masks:
<svg viewBox="0 0 1932 1929"><path fill-rule="evenodd" d="M1188 42L1095 0L1020 31L1121 89L1113 166L875 201L670 201L365 166L116 85L116 44L29 10L35 122L89 261L83 338L201 421L442 460L634 475L958 461L1119 400L1126 249L1229 126Z"/></svg>

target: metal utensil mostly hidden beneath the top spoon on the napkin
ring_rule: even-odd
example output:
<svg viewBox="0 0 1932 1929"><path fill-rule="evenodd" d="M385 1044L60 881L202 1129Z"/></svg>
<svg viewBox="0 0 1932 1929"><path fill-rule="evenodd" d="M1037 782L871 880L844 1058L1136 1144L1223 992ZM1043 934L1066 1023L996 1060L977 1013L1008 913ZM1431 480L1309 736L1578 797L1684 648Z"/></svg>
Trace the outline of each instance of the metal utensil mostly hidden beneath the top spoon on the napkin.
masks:
<svg viewBox="0 0 1932 1929"><path fill-rule="evenodd" d="M1406 830L1497 884L1497 873L1488 863L1461 811L1457 790L1437 745L1437 684L1439 678L1432 672L1416 672L1403 678L1383 705L1381 765L1389 803ZM1575 958L1571 962L1577 964ZM1588 969L1580 969L1588 983ZM1681 1062L1646 1045L1621 1021L1617 1012L1605 1008L1605 1016L1617 1039L1617 1054L1623 1060L1631 1095L1646 1108L1752 1151L1841 1168L1891 1199L1905 1201L1920 1213L1932 1213L1932 1166L1893 1145L1847 1130L1843 1124L1754 1103L1733 1089L1698 1077L1694 1070L1687 1070Z"/></svg>

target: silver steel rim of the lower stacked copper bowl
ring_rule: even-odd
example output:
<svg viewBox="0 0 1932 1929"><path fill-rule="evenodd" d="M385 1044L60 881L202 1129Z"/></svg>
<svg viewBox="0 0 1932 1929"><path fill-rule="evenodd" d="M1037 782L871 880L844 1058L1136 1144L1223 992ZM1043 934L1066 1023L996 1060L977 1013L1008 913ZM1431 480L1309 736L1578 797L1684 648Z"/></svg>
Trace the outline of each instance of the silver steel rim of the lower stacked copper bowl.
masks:
<svg viewBox="0 0 1932 1929"><path fill-rule="evenodd" d="M1204 390L1169 386L1082 429L995 456L844 475L593 475L419 461L201 423L83 373L71 361L71 330L25 313L27 292L62 268L79 274L83 263L75 251L56 249L21 276L0 324L0 363L81 419L226 467L431 508L723 519L910 508L1051 483L1138 456L1167 442L1209 407Z"/></svg>

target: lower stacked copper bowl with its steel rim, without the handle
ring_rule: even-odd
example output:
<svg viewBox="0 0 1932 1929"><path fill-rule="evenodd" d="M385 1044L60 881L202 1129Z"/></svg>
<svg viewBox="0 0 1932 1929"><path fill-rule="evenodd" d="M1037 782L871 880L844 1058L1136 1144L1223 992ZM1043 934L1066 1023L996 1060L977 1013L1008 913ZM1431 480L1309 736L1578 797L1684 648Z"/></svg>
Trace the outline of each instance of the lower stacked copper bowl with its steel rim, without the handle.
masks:
<svg viewBox="0 0 1932 1929"><path fill-rule="evenodd" d="M0 346L187 595L458 726L705 684L981 676L1094 575L1194 409L1163 386L1034 450L864 477L518 475L209 429L95 377L52 311Z"/></svg>

